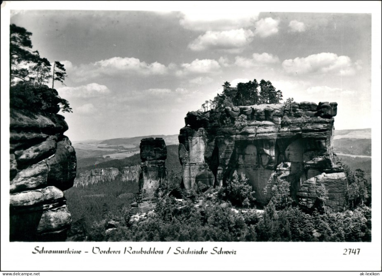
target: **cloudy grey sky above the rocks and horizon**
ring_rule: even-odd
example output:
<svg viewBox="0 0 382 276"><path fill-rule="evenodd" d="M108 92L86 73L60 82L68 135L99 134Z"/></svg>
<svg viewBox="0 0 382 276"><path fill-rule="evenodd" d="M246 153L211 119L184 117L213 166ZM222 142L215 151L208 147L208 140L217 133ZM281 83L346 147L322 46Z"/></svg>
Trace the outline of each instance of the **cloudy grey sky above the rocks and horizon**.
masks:
<svg viewBox="0 0 382 276"><path fill-rule="evenodd" d="M225 81L270 80L295 101L336 101L335 128L371 120L371 14L14 10L33 49L65 64L56 86L72 141L179 133Z"/></svg>

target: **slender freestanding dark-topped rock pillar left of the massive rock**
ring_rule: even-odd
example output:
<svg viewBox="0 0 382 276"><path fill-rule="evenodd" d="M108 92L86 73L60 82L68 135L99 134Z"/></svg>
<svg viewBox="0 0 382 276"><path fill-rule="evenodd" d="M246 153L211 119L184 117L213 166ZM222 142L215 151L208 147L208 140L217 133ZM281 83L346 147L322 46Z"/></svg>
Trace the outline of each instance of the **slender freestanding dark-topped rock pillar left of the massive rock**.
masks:
<svg viewBox="0 0 382 276"><path fill-rule="evenodd" d="M131 204L129 211L132 220L155 208L157 199L163 196L162 188L167 184L167 148L163 138L142 139L140 149L142 163L139 194L137 202Z"/></svg>

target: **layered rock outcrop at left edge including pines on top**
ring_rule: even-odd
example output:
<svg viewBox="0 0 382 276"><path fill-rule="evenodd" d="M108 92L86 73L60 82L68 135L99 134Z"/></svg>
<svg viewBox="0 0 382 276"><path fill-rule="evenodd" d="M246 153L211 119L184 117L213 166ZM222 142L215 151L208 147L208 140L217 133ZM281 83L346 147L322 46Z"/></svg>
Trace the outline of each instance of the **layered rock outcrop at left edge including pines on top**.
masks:
<svg viewBox="0 0 382 276"><path fill-rule="evenodd" d="M71 108L53 82L66 74L31 50L31 35L10 26L10 240L64 241L71 215L62 191L73 186L76 153L57 114Z"/></svg>

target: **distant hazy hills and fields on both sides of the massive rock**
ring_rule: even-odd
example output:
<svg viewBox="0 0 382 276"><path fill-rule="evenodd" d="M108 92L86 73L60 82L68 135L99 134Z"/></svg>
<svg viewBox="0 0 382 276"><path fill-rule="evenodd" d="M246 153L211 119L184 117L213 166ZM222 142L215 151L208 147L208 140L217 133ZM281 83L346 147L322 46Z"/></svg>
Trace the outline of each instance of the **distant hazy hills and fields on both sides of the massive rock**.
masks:
<svg viewBox="0 0 382 276"><path fill-rule="evenodd" d="M178 134L150 135L107 140L74 141L77 156L77 176L85 170L114 167L120 170L130 165L139 165L139 143L143 138L160 137L165 140L168 149L170 170L178 173L180 164L177 156ZM173 146L171 146L173 145ZM371 179L371 128L354 130L335 130L333 137L334 152L355 170L361 168ZM177 164L178 163L178 164Z"/></svg>

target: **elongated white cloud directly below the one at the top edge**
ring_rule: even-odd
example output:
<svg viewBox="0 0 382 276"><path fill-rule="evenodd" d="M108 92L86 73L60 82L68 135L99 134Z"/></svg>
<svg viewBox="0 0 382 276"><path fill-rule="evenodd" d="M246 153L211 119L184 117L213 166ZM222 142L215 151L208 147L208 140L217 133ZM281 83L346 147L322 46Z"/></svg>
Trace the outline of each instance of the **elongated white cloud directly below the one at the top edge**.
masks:
<svg viewBox="0 0 382 276"><path fill-rule="evenodd" d="M207 49L238 49L242 48L253 40L251 30L225 30L225 31L207 31L204 35L199 35L197 39L188 45L193 51L203 51Z"/></svg>

